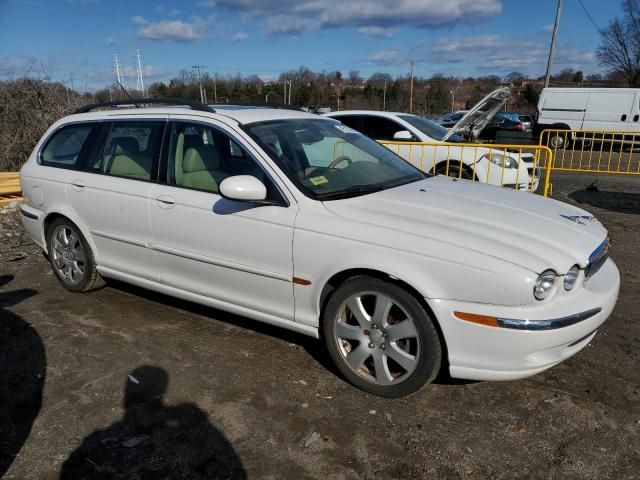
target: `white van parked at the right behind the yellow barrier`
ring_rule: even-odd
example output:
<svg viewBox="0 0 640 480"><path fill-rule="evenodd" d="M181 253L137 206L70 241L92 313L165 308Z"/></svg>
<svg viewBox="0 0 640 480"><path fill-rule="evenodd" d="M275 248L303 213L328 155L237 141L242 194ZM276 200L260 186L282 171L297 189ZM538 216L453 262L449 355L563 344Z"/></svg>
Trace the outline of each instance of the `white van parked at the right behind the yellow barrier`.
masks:
<svg viewBox="0 0 640 480"><path fill-rule="evenodd" d="M537 131L546 129L640 132L640 89L545 88L538 101ZM548 143L559 148L564 138L551 135Z"/></svg>

